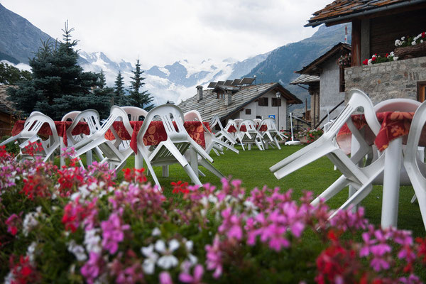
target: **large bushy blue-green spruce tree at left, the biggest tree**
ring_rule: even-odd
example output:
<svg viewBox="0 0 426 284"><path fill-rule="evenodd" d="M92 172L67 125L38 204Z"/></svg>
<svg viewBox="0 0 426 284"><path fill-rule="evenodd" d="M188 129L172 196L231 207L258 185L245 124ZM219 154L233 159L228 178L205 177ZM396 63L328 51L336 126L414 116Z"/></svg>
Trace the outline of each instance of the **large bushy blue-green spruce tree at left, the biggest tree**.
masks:
<svg viewBox="0 0 426 284"><path fill-rule="evenodd" d="M30 60L33 80L19 83L17 89L8 89L9 99L24 115L36 110L60 120L70 111L109 108L108 97L92 93L98 75L83 72L77 64L77 40L71 40L74 28L68 28L66 22L62 31L63 42L43 43Z"/></svg>

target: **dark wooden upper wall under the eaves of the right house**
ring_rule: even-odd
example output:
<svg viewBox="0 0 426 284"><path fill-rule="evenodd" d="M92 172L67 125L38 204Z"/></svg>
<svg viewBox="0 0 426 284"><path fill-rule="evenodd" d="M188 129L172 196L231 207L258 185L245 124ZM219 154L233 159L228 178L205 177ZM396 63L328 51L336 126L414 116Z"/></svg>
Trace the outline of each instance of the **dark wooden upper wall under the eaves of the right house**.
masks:
<svg viewBox="0 0 426 284"><path fill-rule="evenodd" d="M395 49L395 40L402 36L415 36L425 31L426 9L371 18L370 55L386 55Z"/></svg>

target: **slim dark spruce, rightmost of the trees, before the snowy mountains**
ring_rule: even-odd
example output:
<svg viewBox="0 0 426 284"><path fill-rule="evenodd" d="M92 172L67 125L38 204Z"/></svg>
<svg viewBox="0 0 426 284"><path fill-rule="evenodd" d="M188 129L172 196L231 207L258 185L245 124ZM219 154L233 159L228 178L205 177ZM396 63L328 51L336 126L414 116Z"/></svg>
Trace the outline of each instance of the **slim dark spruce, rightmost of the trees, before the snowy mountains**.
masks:
<svg viewBox="0 0 426 284"><path fill-rule="evenodd" d="M130 77L131 87L129 90L131 105L149 111L154 107L153 104L151 104L153 98L147 90L139 92L139 89L141 89L141 87L143 87L143 85L145 84L143 82L145 78L142 77L143 71L141 70L141 64L139 63L139 60L136 60L136 70L132 71L132 73L133 77Z"/></svg>

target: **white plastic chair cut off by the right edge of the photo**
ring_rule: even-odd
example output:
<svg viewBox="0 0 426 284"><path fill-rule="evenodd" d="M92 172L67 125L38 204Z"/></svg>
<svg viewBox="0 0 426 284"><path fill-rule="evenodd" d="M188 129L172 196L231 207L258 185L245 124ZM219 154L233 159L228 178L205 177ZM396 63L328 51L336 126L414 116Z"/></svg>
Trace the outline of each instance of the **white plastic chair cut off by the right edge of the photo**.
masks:
<svg viewBox="0 0 426 284"><path fill-rule="evenodd" d="M419 158L417 152L425 123L426 102L423 102L415 112L413 121L411 122L403 163L417 196L423 225L426 229L426 164L422 160L424 156Z"/></svg>

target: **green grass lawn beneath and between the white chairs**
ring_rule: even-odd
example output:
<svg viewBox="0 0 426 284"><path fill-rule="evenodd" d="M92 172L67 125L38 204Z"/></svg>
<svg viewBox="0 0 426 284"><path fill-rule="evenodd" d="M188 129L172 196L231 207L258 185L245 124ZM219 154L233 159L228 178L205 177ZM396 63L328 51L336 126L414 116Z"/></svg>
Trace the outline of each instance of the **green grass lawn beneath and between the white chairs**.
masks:
<svg viewBox="0 0 426 284"><path fill-rule="evenodd" d="M324 189L334 182L341 175L339 171L333 170L332 163L327 158L321 158L314 163L305 166L300 170L295 171L281 180L277 180L275 176L269 171L271 165L278 163L288 155L295 153L295 151L302 148L302 146L283 146L281 150L269 148L266 151L258 151L257 148L252 148L251 151L242 151L239 149L239 154L231 151L226 151L225 155L217 156L212 152L214 159L214 166L220 170L224 175L231 176L234 179L243 181L243 186L246 187L247 192L254 187L280 187L282 190L293 189L293 197L298 198L302 195L302 190L310 190L319 195ZM127 167L133 167L133 156L127 161ZM200 177L203 183L212 183L218 187L221 185L219 178L212 173L209 173L204 168L200 170L206 177ZM178 165L170 166L170 175L168 178L161 176L161 168L155 168L155 173L164 188L166 196L171 195L172 186L170 182L177 182L178 180L190 182L185 171ZM119 179L122 173L119 174ZM151 176L148 176L148 181L153 182ZM336 197L329 200L332 208L337 208L346 200L348 190L342 190ZM413 231L415 236L425 236L425 228L422 223L420 209L417 202L410 203L413 197L413 187L401 187L400 189L400 206L398 212L398 228L408 229ZM373 191L361 203L366 209L366 217L373 224L380 224L381 219L381 202L382 202L382 187L374 186Z"/></svg>

